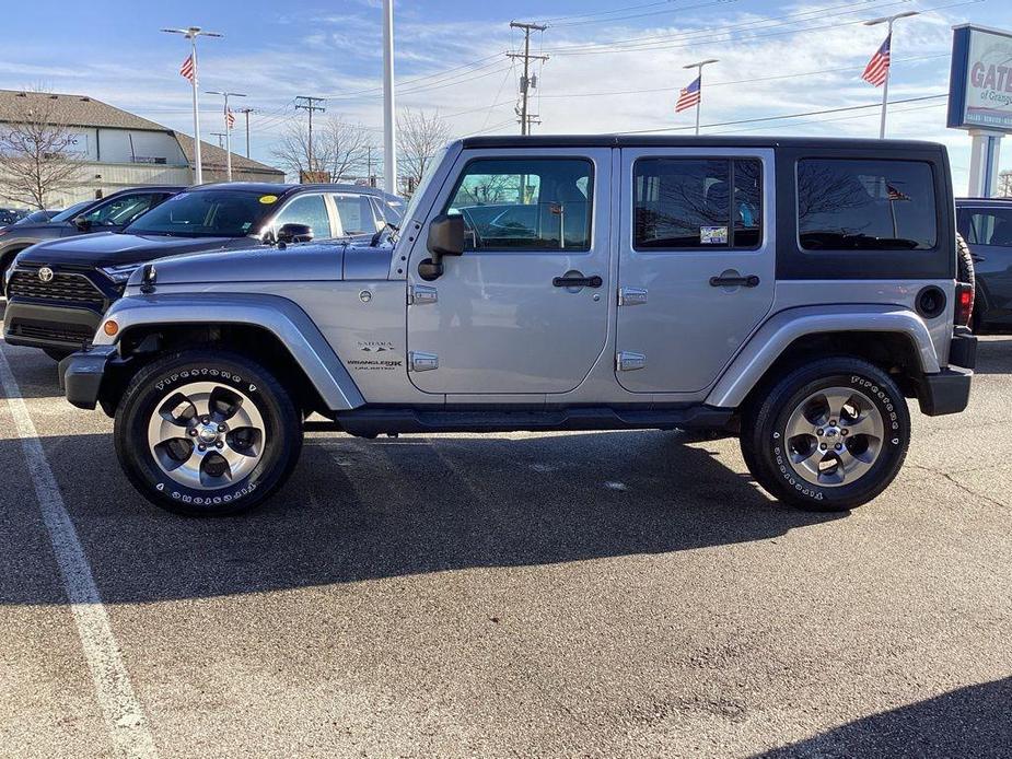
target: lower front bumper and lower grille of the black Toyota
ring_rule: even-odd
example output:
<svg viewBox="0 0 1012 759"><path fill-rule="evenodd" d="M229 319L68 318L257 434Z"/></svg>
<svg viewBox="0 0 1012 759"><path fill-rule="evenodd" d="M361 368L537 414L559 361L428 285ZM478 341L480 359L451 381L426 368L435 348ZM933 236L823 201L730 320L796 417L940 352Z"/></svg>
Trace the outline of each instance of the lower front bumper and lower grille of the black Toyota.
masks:
<svg viewBox="0 0 1012 759"><path fill-rule="evenodd" d="M8 301L3 339L12 346L80 350L91 343L102 314L90 308Z"/></svg>

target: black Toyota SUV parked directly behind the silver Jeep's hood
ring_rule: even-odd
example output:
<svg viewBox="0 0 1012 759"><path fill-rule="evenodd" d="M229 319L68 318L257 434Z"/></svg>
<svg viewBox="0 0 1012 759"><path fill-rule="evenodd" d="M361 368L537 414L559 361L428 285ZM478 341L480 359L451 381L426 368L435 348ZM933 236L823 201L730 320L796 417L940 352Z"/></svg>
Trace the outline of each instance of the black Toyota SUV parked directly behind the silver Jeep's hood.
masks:
<svg viewBox="0 0 1012 759"><path fill-rule="evenodd" d="M119 234L53 241L21 253L7 282L4 338L63 358L91 340L141 264L313 236L369 241L387 223L388 206L380 190L348 185L191 187Z"/></svg>

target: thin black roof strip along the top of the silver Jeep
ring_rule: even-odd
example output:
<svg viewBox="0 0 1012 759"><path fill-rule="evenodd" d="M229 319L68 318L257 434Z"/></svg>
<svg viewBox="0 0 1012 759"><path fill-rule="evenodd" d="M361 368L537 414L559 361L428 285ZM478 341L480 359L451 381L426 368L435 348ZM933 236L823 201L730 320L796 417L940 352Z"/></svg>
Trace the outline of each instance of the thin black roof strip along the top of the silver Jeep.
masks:
<svg viewBox="0 0 1012 759"><path fill-rule="evenodd" d="M826 137L695 137L691 135L489 135L465 137L465 148L859 148L923 150L941 148L919 140L871 140Z"/></svg>

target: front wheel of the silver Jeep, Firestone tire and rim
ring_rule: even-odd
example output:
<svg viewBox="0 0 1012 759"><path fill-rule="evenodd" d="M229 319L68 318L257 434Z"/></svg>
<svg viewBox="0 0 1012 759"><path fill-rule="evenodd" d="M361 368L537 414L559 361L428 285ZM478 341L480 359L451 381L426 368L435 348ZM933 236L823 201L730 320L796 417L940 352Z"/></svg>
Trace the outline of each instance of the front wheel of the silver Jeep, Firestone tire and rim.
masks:
<svg viewBox="0 0 1012 759"><path fill-rule="evenodd" d="M225 431L212 439L216 429ZM154 445L160 436L166 441ZM187 516L225 516L252 509L288 479L302 449L302 416L257 363L184 350L133 377L114 439L124 471L151 503ZM205 453L197 453L199 441Z"/></svg>

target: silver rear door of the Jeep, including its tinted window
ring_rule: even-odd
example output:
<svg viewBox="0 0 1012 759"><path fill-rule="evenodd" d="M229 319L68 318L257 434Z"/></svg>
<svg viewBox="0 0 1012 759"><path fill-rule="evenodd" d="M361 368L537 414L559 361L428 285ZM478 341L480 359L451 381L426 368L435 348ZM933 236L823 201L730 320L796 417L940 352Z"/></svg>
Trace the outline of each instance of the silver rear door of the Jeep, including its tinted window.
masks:
<svg viewBox="0 0 1012 759"><path fill-rule="evenodd" d="M618 382L703 390L772 304L772 151L624 149L621 172Z"/></svg>

